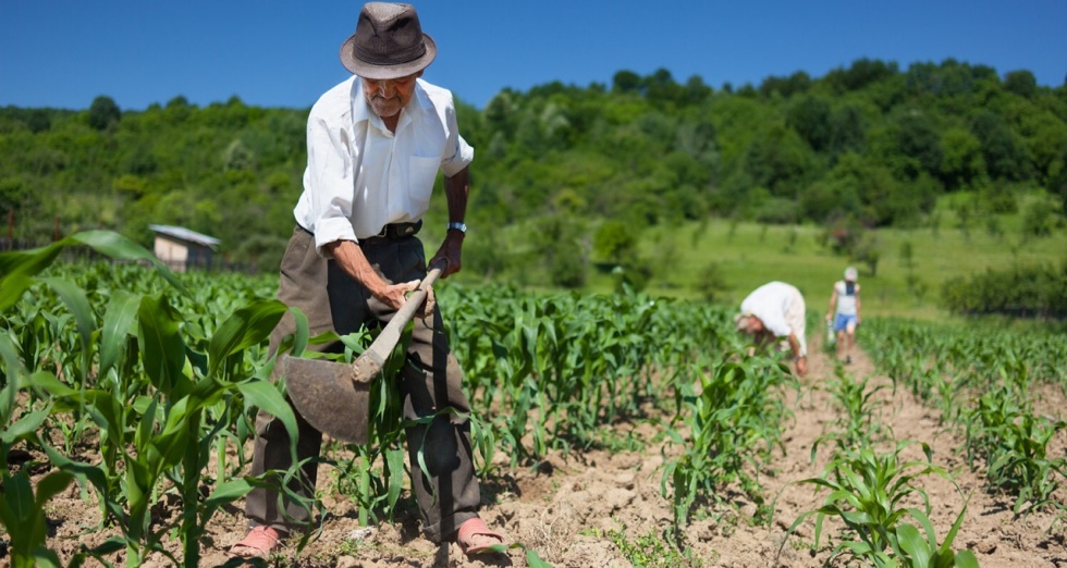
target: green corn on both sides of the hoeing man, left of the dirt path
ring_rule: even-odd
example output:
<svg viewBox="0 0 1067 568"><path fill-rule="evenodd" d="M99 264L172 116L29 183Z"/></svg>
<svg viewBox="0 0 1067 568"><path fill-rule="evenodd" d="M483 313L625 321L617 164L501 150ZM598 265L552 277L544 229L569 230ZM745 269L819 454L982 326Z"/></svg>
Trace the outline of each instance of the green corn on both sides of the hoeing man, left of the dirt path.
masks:
<svg viewBox="0 0 1067 568"><path fill-rule="evenodd" d="M53 263L63 247L85 245L119 262ZM152 553L195 565L220 507L257 485L284 491L293 472L253 478L247 456L228 457L245 447L256 408L295 431L283 385L267 380L274 361L266 338L287 310L270 299L273 286L173 274L108 232L0 255L0 462L9 465L0 522L13 566L62 564L48 545L45 509L75 482L91 490L101 524L120 535L82 544L69 565L123 551L130 566ZM662 490L677 523L734 481L762 501L756 476L781 444L787 410L774 394L788 373L745 353L724 308L498 286L442 286L441 305L465 367L483 472L498 452L530 464L666 410L673 418L654 420L676 447ZM287 345L296 354L316 341L301 321ZM376 333L341 337L348 349L339 359L352 360ZM326 454L365 522L392 516L405 467L419 467L406 466L400 449L391 379L402 363L391 358L372 388L371 443ZM86 445L99 456L91 462L78 457ZM41 467L48 473L32 479ZM151 515L164 498L181 504L176 520ZM170 535L182 543L181 560L164 545Z"/></svg>

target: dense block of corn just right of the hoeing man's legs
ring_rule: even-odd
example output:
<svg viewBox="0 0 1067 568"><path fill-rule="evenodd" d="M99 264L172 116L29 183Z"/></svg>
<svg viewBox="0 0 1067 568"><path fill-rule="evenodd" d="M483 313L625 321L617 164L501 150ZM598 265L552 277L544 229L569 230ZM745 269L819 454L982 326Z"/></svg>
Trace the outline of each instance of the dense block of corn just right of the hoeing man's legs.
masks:
<svg viewBox="0 0 1067 568"><path fill-rule="evenodd" d="M552 448L588 447L604 424L640 418L642 404L664 399L657 396L664 386L696 380L695 358L716 349L728 321L722 308L633 292L530 296L450 286L439 294L474 412L487 421L476 434L491 435L513 466ZM679 326L691 334L677 334Z"/></svg>

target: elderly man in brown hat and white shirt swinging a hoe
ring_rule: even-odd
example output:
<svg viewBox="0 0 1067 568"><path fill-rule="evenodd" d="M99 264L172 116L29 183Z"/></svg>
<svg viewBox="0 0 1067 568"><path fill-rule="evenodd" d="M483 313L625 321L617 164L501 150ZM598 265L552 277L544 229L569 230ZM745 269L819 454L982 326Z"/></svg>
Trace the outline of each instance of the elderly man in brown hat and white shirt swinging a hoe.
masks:
<svg viewBox="0 0 1067 568"><path fill-rule="evenodd" d="M282 258L278 298L307 314L312 334L346 335L385 322L417 288L427 263L416 233L439 171L445 176L449 220L430 264L446 263L442 277L461 269L474 150L459 136L452 94L420 78L436 55L437 45L422 33L412 5L367 3L355 33L341 46L341 62L353 76L311 108L304 193L293 211L296 226ZM431 305L416 321L400 378L406 419L414 423L438 415L429 424L407 429L412 487L426 536L439 543L455 540L475 554L504 539L478 517L480 490L464 418L469 405L461 387L463 373ZM292 318L283 319L271 335L271 353L294 330ZM311 348L341 350L343 345ZM457 412L439 413L447 408ZM303 461L319 455L322 435L297 420L297 459ZM252 473L289 470L293 464L282 424L260 411L256 428ZM426 472L418 466L419 452ZM311 498L316 465L306 464L290 487ZM278 492L266 489L249 493L245 516L252 531L231 548L242 557L268 556L291 529L310 520L298 502L280 505Z"/></svg>

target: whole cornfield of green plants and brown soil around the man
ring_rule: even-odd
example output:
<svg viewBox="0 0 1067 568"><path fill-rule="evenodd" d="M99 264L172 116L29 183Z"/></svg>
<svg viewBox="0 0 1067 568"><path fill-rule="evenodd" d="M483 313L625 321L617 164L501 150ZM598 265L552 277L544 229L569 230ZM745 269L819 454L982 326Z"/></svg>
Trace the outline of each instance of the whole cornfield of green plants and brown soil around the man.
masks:
<svg viewBox="0 0 1067 568"><path fill-rule="evenodd" d="M262 482L243 477L249 412L283 410L263 380L283 310L263 299L271 283L0 260L0 561L226 564L243 492ZM1067 561L1062 334L875 318L854 365L812 332L797 382L774 354L747 353L729 307L456 286L440 300L483 517L516 546L468 560L418 535L382 381L376 444L328 444L321 527L270 565L917 566L920 531L959 566ZM863 474L891 503L864 502ZM881 507L883 532L843 530L854 505Z"/></svg>

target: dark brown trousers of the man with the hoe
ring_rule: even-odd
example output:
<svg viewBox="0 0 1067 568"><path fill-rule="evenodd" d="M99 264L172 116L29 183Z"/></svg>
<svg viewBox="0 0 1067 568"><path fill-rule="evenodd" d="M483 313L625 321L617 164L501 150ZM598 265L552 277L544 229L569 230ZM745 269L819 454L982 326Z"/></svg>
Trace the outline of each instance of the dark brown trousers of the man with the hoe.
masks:
<svg viewBox="0 0 1067 568"><path fill-rule="evenodd" d="M409 282L426 276L422 243L415 236L360 243L364 255L387 281ZM338 335L357 331L360 325L388 322L395 310L373 298L348 276L335 261L315 251L315 238L297 226L285 249L281 264L278 299L299 308L308 319L311 335L333 330ZM279 322L270 337L270 353L277 351L282 338L295 331L293 318ZM308 346L322 351L340 350L343 345ZM437 313L415 320L415 331L407 348L407 365L400 378L404 397L404 418L415 420L442 408L470 411L461 388L463 372L449 348L447 336ZM297 459L318 457L322 434L297 413L299 439ZM422 514L426 536L434 542L451 540L465 520L477 516L481 499L471 461L470 424L463 417L442 415L430 424L406 430L410 458L412 486ZM286 471L292 466L289 434L281 421L260 411L256 417L256 443L252 474L268 470ZM418 466L417 453L424 453L429 476ZM290 487L310 498L314 496L316 465L306 464L301 476L294 476ZM284 510L281 510L283 507ZM245 502L245 516L252 526L266 524L287 533L290 528L306 526L311 514L298 503L279 499L277 491L253 490Z"/></svg>

